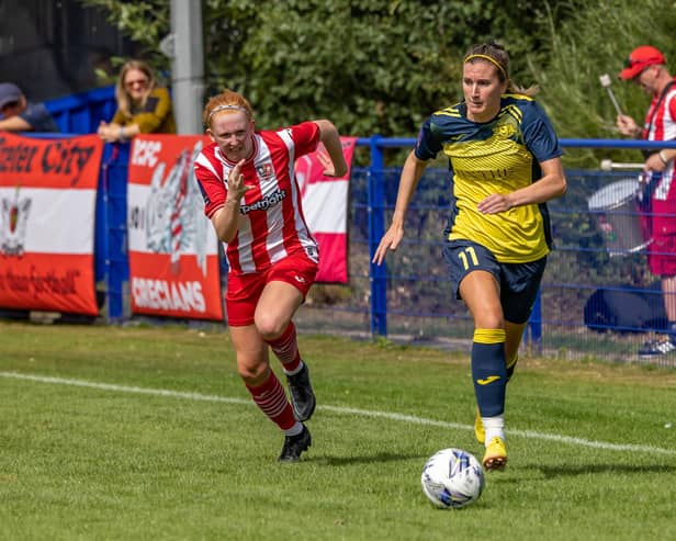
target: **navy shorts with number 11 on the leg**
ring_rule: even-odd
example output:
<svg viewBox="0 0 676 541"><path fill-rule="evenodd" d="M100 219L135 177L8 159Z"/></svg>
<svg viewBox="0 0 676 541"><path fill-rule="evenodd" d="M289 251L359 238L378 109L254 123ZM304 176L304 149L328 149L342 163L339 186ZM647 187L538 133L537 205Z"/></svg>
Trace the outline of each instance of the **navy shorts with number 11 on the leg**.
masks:
<svg viewBox="0 0 676 541"><path fill-rule="evenodd" d="M457 298L460 282L470 272L483 270L495 277L500 286L500 304L509 323L528 322L544 273L547 256L528 263L500 263L491 250L471 240L450 240L443 247L451 286Z"/></svg>

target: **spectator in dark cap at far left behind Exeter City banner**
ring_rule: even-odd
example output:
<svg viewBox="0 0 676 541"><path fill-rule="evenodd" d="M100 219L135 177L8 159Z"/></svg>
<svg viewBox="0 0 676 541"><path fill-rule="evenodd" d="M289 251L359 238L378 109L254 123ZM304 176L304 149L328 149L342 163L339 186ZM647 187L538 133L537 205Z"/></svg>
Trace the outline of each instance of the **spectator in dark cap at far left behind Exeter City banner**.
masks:
<svg viewBox="0 0 676 541"><path fill-rule="evenodd" d="M44 103L31 103L12 82L0 82L0 132L58 132Z"/></svg>

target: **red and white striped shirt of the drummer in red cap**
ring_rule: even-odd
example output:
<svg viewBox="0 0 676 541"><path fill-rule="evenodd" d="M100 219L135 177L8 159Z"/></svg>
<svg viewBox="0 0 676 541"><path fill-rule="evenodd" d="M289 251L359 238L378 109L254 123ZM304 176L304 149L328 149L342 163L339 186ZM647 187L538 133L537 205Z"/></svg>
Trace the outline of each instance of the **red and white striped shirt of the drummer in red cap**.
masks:
<svg viewBox="0 0 676 541"><path fill-rule="evenodd" d="M643 138L649 140L676 139L676 84L660 100L655 95L645 115ZM676 182L672 160L653 190L651 199L652 232L654 235L676 233Z"/></svg>

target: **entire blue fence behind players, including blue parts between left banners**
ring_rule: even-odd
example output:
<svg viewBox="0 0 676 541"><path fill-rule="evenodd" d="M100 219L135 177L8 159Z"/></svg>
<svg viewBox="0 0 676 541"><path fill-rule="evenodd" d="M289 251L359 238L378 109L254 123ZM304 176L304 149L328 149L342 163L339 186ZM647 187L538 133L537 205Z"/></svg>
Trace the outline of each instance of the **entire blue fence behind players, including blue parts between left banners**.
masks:
<svg viewBox="0 0 676 541"><path fill-rule="evenodd" d="M113 103L113 89L108 88L47 105L64 132L91 133L100 120L112 116ZM464 305L450 294L440 257L449 203L446 170L426 171L412 201L407 236L396 256L388 257L381 267L371 263L390 223L401 171L399 167L386 166L385 154L412 148L414 143L413 138L380 136L358 139L358 146L369 148L370 164L353 168L351 178L350 284L315 286L301 315L306 326L367 335L402 334L413 339L471 336L472 324ZM676 148L676 143L643 140L562 139L561 143L565 149ZM105 284L108 317L112 322L128 317L127 159L128 145L105 146L97 201L97 279ZM566 174L568 194L550 204L556 248L550 256L541 297L529 322L527 343L549 351L604 357L616 351L618 357L626 358L635 350L635 336L664 329L662 294L655 277L646 270L645 249L629 247L612 252L599 227L599 217L612 215L617 222L626 223L628 229L633 228L635 211L622 207L594 211L588 201L615 182L635 182L638 171L568 170ZM616 227L616 234L622 235L623 226ZM641 303L647 306L640 322L618 317L612 302L621 295L633 308Z"/></svg>

